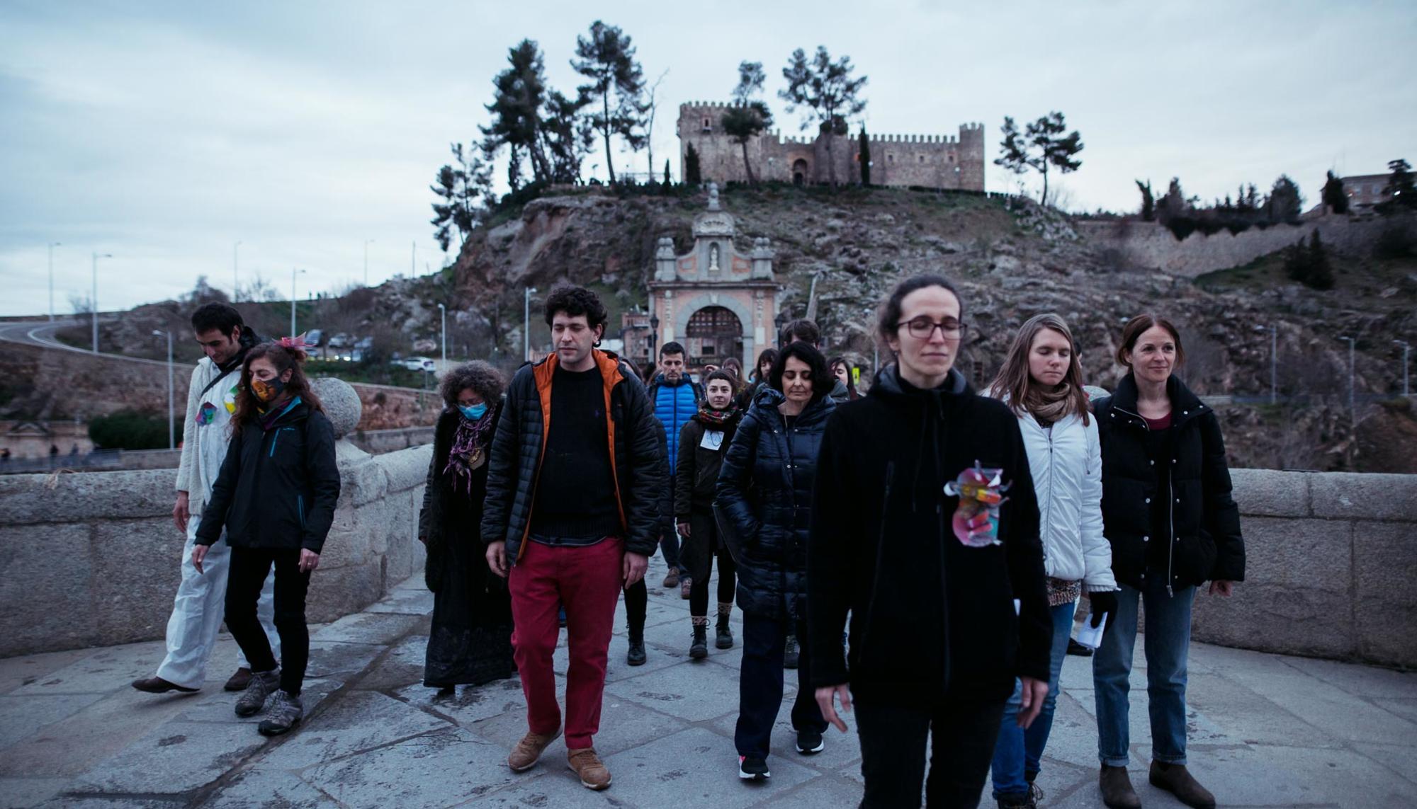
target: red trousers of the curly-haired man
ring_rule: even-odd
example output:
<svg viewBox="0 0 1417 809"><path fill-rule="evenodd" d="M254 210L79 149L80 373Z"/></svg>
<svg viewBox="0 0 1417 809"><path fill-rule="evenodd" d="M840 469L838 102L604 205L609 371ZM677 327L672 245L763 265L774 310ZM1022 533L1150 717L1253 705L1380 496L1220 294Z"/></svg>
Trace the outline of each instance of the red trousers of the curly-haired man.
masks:
<svg viewBox="0 0 1417 809"><path fill-rule="evenodd" d="M591 747L601 728L601 696L609 658L615 604L619 601L625 543L616 537L582 547L526 540L507 574L512 591L512 651L527 697L531 733L561 727L551 655L560 634L557 611L565 607L571 666L565 672L565 747Z"/></svg>

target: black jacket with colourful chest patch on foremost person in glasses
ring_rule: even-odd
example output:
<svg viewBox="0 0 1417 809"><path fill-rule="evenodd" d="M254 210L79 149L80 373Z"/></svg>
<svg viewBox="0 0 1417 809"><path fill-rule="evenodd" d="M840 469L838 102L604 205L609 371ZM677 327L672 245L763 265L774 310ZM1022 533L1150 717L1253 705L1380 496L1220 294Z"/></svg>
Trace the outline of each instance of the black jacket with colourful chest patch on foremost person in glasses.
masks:
<svg viewBox="0 0 1417 809"><path fill-rule="evenodd" d="M985 547L956 539L959 498L944 491L975 462L1009 487L999 543ZM1017 417L958 371L918 390L894 365L837 407L818 461L808 608L815 687L920 704L1003 700L1016 676L1046 682L1053 619Z"/></svg>

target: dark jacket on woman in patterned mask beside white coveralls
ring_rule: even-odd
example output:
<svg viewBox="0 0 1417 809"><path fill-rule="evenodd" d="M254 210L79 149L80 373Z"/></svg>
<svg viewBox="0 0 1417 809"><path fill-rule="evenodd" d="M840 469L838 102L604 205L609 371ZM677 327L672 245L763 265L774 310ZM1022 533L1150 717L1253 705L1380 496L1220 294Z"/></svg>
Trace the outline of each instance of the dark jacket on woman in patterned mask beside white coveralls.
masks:
<svg viewBox="0 0 1417 809"><path fill-rule="evenodd" d="M247 423L232 436L197 543L215 545L225 526L231 547L320 553L339 499L334 429L296 397L268 427Z"/></svg>

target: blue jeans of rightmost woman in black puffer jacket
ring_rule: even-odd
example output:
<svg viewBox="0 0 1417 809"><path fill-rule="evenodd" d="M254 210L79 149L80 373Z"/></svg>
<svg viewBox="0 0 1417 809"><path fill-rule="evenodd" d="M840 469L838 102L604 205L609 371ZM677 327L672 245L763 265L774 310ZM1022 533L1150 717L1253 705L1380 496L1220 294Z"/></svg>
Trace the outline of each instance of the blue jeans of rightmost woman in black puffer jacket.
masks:
<svg viewBox="0 0 1417 809"><path fill-rule="evenodd" d="M1136 605L1146 610L1146 709L1151 713L1152 759L1186 764L1186 653L1190 651L1190 608L1195 587L1166 594L1166 577L1152 576L1142 590L1122 586L1117 615L1108 618L1102 645L1093 655L1097 693L1097 755L1108 767L1127 767L1131 738L1127 692L1136 646Z"/></svg>

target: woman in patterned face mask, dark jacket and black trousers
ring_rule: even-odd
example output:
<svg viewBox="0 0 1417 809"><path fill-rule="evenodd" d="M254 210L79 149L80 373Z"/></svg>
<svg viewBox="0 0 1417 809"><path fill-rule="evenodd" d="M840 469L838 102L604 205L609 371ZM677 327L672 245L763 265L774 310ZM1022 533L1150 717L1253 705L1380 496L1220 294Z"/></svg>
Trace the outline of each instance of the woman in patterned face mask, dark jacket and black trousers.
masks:
<svg viewBox="0 0 1417 809"><path fill-rule="evenodd" d="M207 549L227 529L227 629L251 660L251 685L237 700L237 716L255 716L275 699L259 730L278 735L305 714L300 683L310 656L305 594L334 520L340 471L334 429L302 371L299 339L262 342L241 368L231 448L211 488L193 546L201 573ZM283 669L256 619L261 587L275 566L275 628Z"/></svg>

